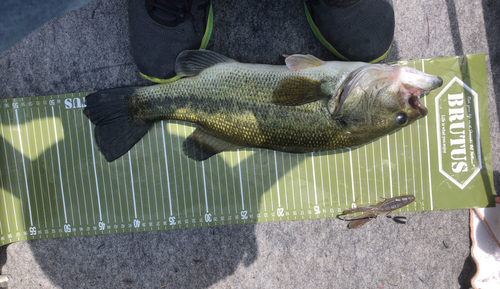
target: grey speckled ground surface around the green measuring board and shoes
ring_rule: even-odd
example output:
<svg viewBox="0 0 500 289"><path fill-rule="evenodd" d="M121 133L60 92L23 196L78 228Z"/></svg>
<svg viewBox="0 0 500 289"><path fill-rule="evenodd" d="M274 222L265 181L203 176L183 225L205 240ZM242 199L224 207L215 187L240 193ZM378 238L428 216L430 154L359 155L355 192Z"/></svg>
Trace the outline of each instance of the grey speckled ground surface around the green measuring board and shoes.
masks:
<svg viewBox="0 0 500 289"><path fill-rule="evenodd" d="M49 21L0 54L0 97L145 85L129 54L123 0L95 0ZM486 53L495 187L499 174L500 4L394 0L388 61ZM301 1L214 0L209 49L244 62L281 54L333 56ZM336 219L13 243L0 248L9 286L96 288L469 288L468 210L379 218L359 230Z"/></svg>

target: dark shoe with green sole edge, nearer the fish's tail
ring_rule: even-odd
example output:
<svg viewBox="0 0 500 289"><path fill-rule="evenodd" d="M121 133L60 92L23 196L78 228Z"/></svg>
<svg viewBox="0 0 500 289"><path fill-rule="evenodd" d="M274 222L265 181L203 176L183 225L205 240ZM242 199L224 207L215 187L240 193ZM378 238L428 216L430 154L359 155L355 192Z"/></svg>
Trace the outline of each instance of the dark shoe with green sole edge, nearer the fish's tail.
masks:
<svg viewBox="0 0 500 289"><path fill-rule="evenodd" d="M141 75L154 82L179 79L177 55L205 49L212 33L207 0L131 0L128 9L132 57Z"/></svg>

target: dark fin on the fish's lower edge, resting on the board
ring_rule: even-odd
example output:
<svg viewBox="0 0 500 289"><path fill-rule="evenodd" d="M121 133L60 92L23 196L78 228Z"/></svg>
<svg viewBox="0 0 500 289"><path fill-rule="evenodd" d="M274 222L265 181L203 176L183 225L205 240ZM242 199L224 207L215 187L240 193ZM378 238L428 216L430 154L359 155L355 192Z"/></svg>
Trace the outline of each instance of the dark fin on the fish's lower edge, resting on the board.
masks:
<svg viewBox="0 0 500 289"><path fill-rule="evenodd" d="M186 138L182 144L182 148L189 158L196 161L204 161L220 152L242 147L218 139L208 134L203 129L197 128Z"/></svg>

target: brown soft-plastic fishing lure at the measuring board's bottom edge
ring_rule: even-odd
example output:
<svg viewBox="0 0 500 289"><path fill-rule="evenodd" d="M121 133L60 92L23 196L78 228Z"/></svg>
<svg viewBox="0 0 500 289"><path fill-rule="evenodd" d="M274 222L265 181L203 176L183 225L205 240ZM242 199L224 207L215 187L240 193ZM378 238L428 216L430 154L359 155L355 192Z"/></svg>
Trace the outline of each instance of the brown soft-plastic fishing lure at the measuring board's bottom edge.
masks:
<svg viewBox="0 0 500 289"><path fill-rule="evenodd" d="M392 211L401 209L415 201L414 195L404 195L393 198L384 198L383 201L376 205L367 205L354 209L348 209L338 215L337 218L348 221L347 228L357 229L369 221L377 218L380 213L390 214ZM343 217L345 215L350 215L354 213L363 212L363 214L355 217ZM392 217L392 219L397 223L406 223L405 217Z"/></svg>

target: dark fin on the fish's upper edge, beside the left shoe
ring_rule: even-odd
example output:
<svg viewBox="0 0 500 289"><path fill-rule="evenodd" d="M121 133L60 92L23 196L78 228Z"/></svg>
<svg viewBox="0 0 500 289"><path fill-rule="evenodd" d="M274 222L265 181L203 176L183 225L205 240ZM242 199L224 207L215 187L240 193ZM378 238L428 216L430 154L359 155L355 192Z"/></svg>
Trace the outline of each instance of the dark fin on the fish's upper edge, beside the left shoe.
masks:
<svg viewBox="0 0 500 289"><path fill-rule="evenodd" d="M224 62L236 62L217 52L210 50L184 50L175 61L175 72L178 76L195 76L204 69Z"/></svg>

